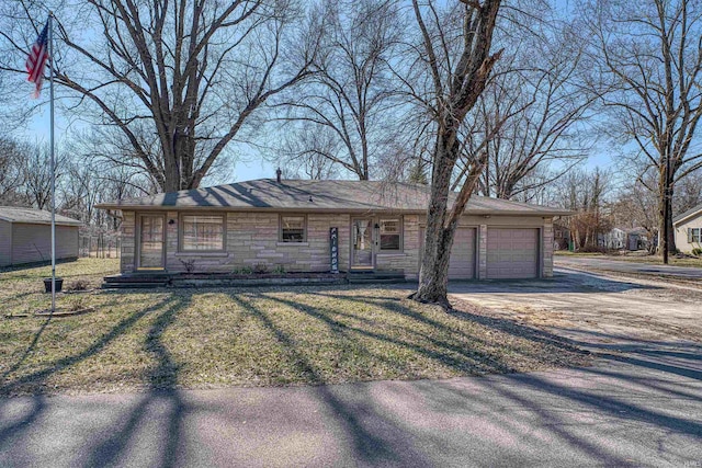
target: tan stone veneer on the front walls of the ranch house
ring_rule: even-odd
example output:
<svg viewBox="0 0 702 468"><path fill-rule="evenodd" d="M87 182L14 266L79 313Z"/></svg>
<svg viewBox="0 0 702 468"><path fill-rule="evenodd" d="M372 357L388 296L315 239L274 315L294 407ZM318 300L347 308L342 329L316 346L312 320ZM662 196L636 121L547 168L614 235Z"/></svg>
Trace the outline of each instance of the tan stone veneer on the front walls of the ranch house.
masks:
<svg viewBox="0 0 702 468"><path fill-rule="evenodd" d="M329 228L339 228L339 269L346 271L351 254L351 215L349 214L308 214L307 242L279 242L278 213L225 213L227 239L225 252L178 252L178 212L166 215L166 269L184 271L182 261L194 260L196 272L231 272L241 267L265 264L269 270L282 265L288 272L329 271ZM172 225L169 219L176 220ZM500 217L490 218L464 216L461 226L477 228L478 278L487 276L487 228L488 226L535 227L542 232L542 276L553 276L553 222L542 217ZM404 249L401 253L378 253L378 270L403 270L405 277L417 279L419 274L420 226L426 225L426 216L404 216ZM135 265L136 216L134 212L123 212L122 259L123 273L134 271Z"/></svg>

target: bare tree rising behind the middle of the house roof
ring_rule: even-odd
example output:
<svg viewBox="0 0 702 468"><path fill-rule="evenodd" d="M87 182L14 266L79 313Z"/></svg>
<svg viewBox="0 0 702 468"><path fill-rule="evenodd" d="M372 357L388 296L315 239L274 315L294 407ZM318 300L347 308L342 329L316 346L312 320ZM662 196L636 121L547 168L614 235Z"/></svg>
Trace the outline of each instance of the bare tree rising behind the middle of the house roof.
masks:
<svg viewBox="0 0 702 468"><path fill-rule="evenodd" d="M393 0L328 0L319 14L327 19L319 72L282 104L284 130L297 139L284 159L309 168L326 159L369 180L398 132L393 109L399 83L389 62L401 16Z"/></svg>

